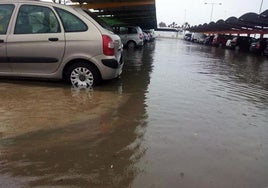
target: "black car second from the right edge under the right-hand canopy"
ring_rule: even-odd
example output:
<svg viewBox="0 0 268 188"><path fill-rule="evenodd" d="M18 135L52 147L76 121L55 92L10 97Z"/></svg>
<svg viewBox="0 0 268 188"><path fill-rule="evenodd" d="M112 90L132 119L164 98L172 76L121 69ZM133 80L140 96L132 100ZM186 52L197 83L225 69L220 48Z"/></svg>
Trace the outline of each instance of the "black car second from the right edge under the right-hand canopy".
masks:
<svg viewBox="0 0 268 188"><path fill-rule="evenodd" d="M235 50L249 51L250 44L255 40L253 37L237 36L232 39L230 47Z"/></svg>

